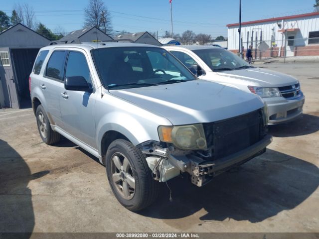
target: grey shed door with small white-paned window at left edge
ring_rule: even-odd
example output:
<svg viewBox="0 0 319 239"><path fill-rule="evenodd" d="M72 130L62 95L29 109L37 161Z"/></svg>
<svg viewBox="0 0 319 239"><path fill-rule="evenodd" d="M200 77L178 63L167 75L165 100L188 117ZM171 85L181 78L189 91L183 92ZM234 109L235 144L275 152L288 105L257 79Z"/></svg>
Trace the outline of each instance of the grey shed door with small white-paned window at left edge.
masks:
<svg viewBox="0 0 319 239"><path fill-rule="evenodd" d="M8 47L0 48L0 84L2 86L5 107L19 109L17 82L13 74L10 49Z"/></svg>

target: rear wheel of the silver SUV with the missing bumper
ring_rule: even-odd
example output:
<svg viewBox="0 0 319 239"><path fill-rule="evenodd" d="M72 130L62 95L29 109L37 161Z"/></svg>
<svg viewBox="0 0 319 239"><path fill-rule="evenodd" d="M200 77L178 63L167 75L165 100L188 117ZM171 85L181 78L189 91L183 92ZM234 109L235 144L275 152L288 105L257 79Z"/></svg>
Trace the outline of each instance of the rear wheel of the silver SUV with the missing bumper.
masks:
<svg viewBox="0 0 319 239"><path fill-rule="evenodd" d="M43 142L49 145L58 142L60 140L60 134L52 130L50 121L42 105L39 105L36 108L35 116L40 137L42 138Z"/></svg>

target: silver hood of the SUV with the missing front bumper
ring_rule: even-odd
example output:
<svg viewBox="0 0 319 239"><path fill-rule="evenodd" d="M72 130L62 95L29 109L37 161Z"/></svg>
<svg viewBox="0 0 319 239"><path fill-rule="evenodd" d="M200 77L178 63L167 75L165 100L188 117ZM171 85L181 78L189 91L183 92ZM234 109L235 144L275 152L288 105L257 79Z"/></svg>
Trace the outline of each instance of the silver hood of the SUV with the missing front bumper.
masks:
<svg viewBox="0 0 319 239"><path fill-rule="evenodd" d="M254 94L204 80L110 90L110 93L165 117L173 125L228 119L264 106Z"/></svg>

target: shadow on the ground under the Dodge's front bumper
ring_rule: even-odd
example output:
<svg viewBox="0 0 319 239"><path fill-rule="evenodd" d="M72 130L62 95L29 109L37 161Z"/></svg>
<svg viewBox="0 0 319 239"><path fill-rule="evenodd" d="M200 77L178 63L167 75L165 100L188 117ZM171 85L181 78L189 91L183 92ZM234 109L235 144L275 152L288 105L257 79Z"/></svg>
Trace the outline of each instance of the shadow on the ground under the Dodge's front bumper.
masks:
<svg viewBox="0 0 319 239"><path fill-rule="evenodd" d="M292 137L315 133L319 130L319 113L304 114L299 119L288 123L270 125L268 129L269 133L275 137Z"/></svg>

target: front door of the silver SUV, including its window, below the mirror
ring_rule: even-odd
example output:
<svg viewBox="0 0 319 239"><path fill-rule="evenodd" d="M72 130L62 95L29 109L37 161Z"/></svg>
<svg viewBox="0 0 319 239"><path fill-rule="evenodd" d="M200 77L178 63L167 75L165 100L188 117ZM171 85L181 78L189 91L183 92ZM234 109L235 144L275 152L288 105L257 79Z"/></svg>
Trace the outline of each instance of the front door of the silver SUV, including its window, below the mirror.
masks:
<svg viewBox="0 0 319 239"><path fill-rule="evenodd" d="M71 76L82 76L94 88L86 52L79 49L69 51L67 55L64 79ZM63 89L59 94L65 131L96 148L95 99L97 93L95 88L92 93Z"/></svg>

